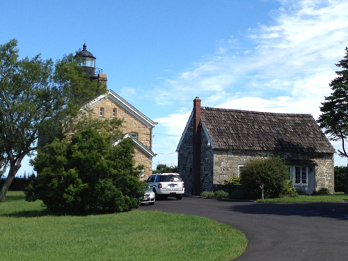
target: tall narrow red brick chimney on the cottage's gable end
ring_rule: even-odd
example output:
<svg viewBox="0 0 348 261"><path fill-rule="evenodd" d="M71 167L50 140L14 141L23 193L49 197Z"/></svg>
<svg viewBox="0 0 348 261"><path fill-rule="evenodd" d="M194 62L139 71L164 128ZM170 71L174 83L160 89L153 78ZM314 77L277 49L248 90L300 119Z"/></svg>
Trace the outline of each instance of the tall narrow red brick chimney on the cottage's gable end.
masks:
<svg viewBox="0 0 348 261"><path fill-rule="evenodd" d="M192 195L200 195L200 98L193 100Z"/></svg>

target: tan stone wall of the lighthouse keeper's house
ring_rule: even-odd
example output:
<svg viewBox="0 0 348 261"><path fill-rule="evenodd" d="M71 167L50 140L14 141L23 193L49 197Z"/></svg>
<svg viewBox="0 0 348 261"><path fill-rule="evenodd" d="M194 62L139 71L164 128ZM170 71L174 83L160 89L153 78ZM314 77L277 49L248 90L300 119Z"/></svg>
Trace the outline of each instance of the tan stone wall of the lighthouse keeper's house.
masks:
<svg viewBox="0 0 348 261"><path fill-rule="evenodd" d="M100 116L100 108L104 108L104 116ZM116 118L122 119L122 132L123 133L136 133L138 134L138 140L143 143L149 150L152 150L152 128L148 128L145 124L134 118L128 111L119 106L110 98L102 100L93 107L93 118L113 118L113 109L116 109ZM136 148L134 151L134 159L136 166L144 166L144 177L147 179L152 174L152 159L145 155L141 150Z"/></svg>

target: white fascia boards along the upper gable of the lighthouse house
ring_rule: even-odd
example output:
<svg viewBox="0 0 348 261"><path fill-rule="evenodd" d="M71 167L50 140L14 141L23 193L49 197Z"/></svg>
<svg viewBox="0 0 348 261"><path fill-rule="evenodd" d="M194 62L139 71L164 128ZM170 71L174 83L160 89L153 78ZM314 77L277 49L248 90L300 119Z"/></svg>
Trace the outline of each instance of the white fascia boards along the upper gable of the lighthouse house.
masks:
<svg viewBox="0 0 348 261"><path fill-rule="evenodd" d="M88 104L86 104L85 107L92 108L93 106L97 105L98 103L102 102L102 100L105 100L108 97L110 97L111 100L113 100L114 102L122 106L122 108L128 111L132 116L134 116L134 118L137 118L139 121L143 122L146 125L146 127L153 128L158 124L158 122L154 122L150 120L150 118L146 117L143 113L135 109L134 106L129 104L129 102L124 100L122 97L120 97L120 95L115 93L113 90L108 90L107 93L95 97L95 99L88 102Z"/></svg>

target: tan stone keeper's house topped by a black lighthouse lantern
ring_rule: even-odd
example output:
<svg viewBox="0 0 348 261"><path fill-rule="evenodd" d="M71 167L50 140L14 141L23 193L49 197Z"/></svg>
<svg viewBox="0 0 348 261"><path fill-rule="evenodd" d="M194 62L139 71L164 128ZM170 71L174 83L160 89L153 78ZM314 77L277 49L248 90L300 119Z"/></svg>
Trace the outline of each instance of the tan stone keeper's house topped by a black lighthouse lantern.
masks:
<svg viewBox="0 0 348 261"><path fill-rule="evenodd" d="M104 84L107 90L106 74L103 74L101 69L95 68L95 57L87 51L86 45L81 52L77 53L77 56L81 56L84 70L90 79L97 79ZM144 166L143 179L147 179L152 174L152 157L156 156L152 152L152 129L157 125L157 122L150 120L113 90L107 90L105 94L97 95L88 100L85 106L92 109L93 118L104 120L117 117L124 121L122 124L124 139L130 138L136 144L134 151L136 166ZM115 141L114 145L117 145L118 142Z"/></svg>

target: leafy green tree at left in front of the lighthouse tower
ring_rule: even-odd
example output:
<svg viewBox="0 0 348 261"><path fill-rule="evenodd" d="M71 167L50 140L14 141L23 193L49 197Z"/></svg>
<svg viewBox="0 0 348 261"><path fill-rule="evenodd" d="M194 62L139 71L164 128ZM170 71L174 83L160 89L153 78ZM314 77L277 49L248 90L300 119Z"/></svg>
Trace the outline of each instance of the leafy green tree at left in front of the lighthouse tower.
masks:
<svg viewBox="0 0 348 261"><path fill-rule="evenodd" d="M84 73L79 57L54 63L40 55L19 60L18 52L17 40L0 45L0 167L8 168L0 202L22 159L37 149L39 133L61 133L57 128L68 126L84 101L104 91Z"/></svg>

